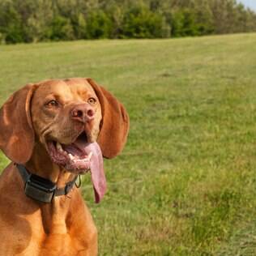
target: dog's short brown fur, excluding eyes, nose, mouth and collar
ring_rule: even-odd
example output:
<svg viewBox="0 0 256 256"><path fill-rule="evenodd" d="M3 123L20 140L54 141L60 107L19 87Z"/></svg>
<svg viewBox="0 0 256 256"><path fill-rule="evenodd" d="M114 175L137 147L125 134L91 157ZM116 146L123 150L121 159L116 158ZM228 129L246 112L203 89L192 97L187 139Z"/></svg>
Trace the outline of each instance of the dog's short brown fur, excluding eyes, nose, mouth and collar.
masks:
<svg viewBox="0 0 256 256"><path fill-rule="evenodd" d="M42 100L51 94L62 100L59 118L44 113ZM29 84L15 92L0 109L0 148L11 159L0 177L0 256L85 256L97 254L97 231L79 189L39 203L24 194L15 163L56 182L59 187L74 173L53 164L45 149L48 133L70 143L82 127L70 122L69 106L94 95L96 118L86 129L103 156L122 151L129 130L126 109L92 79L58 79ZM61 116L61 118L60 118ZM47 132L46 132L47 131Z"/></svg>

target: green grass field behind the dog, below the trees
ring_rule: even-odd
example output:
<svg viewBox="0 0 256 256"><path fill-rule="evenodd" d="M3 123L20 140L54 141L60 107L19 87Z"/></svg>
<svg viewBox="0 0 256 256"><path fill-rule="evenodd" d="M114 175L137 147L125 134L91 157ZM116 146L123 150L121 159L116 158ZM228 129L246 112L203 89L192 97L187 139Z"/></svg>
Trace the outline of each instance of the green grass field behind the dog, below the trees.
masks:
<svg viewBox="0 0 256 256"><path fill-rule="evenodd" d="M1 104L76 76L130 113L100 205L83 179L100 255L256 255L256 34L0 46Z"/></svg>

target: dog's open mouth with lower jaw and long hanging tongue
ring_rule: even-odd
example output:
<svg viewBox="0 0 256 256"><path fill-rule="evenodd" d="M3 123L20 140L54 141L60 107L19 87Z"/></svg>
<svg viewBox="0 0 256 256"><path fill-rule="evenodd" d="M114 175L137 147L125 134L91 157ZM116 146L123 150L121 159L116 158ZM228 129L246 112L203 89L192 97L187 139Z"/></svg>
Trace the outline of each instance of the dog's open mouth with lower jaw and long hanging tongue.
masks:
<svg viewBox="0 0 256 256"><path fill-rule="evenodd" d="M106 181L99 144L96 142L89 143L87 134L83 132L73 143L66 145L50 140L47 147L54 164L58 164L75 174L91 172L96 203L100 202L105 194Z"/></svg>

